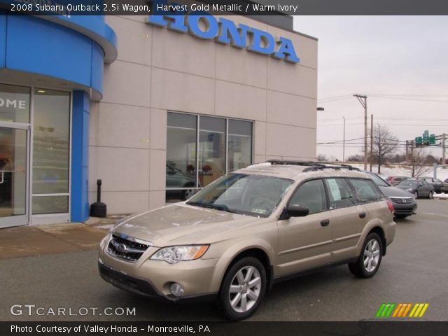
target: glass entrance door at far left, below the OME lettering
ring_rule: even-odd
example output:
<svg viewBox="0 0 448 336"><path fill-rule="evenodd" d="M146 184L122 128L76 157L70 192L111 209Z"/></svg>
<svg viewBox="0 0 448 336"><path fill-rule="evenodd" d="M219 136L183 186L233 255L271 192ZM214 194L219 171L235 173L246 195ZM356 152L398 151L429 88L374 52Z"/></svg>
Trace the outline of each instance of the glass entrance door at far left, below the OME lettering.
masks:
<svg viewBox="0 0 448 336"><path fill-rule="evenodd" d="M0 122L0 228L28 223L29 126Z"/></svg>

